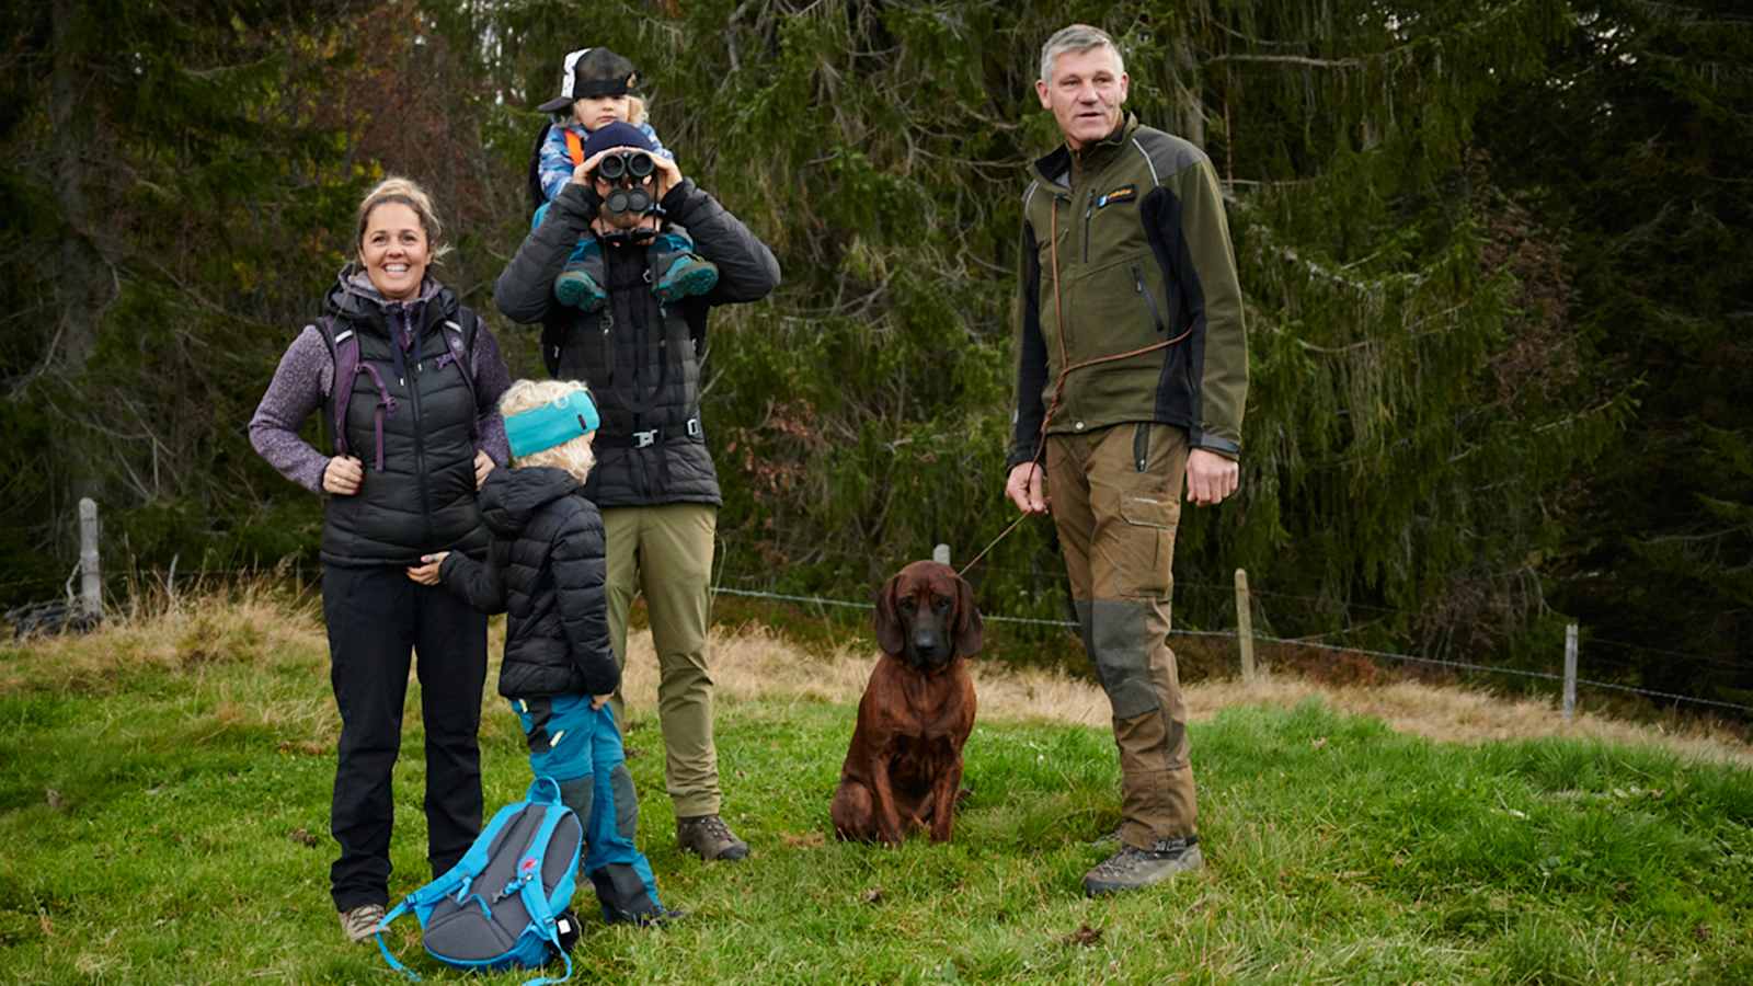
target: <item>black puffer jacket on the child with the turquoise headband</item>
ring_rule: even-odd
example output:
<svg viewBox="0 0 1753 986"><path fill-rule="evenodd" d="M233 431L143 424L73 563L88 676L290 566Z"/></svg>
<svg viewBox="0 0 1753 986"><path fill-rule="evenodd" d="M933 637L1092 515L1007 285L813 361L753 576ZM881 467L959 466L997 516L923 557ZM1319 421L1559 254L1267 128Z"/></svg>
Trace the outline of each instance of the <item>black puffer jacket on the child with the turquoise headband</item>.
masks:
<svg viewBox="0 0 1753 986"><path fill-rule="evenodd" d="M480 488L493 549L451 553L444 584L482 612L507 612L500 695L608 695L621 668L608 644L603 518L559 468L494 468Z"/></svg>

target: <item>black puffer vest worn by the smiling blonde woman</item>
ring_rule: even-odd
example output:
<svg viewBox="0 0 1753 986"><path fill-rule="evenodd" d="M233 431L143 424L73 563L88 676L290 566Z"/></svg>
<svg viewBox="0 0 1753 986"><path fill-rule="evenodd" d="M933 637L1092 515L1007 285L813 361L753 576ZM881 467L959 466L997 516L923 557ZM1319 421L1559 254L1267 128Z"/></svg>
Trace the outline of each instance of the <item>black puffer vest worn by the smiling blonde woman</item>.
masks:
<svg viewBox="0 0 1753 986"><path fill-rule="evenodd" d="M414 565L421 554L447 549L484 556L489 535L475 505L475 391L470 367L456 363L444 339L445 321L472 333L479 325L473 312L436 284L415 302L386 302L363 274L347 268L330 291L328 314L331 353L340 333L352 330L359 339L359 372L333 382L326 419L333 421L333 402L349 395L347 451L365 463L365 482L352 497L328 498L323 561Z"/></svg>

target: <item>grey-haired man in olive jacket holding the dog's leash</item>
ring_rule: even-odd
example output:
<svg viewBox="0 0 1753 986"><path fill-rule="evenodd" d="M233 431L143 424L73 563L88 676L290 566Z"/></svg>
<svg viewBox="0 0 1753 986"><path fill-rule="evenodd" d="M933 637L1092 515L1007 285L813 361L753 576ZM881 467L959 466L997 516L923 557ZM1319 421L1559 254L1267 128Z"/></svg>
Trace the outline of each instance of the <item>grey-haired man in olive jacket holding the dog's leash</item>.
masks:
<svg viewBox="0 0 1753 986"><path fill-rule="evenodd" d="M1217 174L1199 147L1122 112L1127 82L1097 28L1073 25L1041 47L1036 93L1066 142L1024 193L1004 484L1020 511L1052 511L1113 705L1124 821L1118 853L1083 877L1090 895L1204 863L1166 642L1171 560L1183 482L1196 505L1236 491L1248 393Z"/></svg>

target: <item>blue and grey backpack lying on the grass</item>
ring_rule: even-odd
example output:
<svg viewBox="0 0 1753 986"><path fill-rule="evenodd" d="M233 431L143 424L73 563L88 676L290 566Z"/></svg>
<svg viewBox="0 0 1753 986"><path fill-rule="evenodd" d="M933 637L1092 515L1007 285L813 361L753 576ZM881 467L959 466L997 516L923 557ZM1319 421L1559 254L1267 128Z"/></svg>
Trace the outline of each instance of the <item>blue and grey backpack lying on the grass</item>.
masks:
<svg viewBox="0 0 1753 986"><path fill-rule="evenodd" d="M559 784L536 777L524 800L493 816L456 867L384 916L377 925L377 947L391 968L419 979L384 944L389 923L412 911L421 921L426 951L438 961L498 972L540 968L559 953L566 975L538 975L524 986L563 982L571 977L568 946L577 940L577 919L566 905L582 847L584 825L561 804Z"/></svg>

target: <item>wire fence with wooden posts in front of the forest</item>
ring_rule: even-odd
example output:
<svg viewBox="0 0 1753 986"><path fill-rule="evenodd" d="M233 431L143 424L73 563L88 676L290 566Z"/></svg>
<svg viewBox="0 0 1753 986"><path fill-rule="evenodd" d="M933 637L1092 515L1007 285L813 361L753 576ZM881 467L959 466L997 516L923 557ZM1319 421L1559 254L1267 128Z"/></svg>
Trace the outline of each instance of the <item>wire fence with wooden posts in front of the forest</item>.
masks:
<svg viewBox="0 0 1753 986"><path fill-rule="evenodd" d="M44 588L44 589L47 589L51 586L58 586L61 589L61 595L65 595L65 602L58 600L54 604L37 604L37 612L44 612L40 609L44 605L56 605L56 607L61 607L61 611L65 611L65 614L68 618L72 618L75 621L86 621L84 625L95 625L96 619L102 619L102 616L103 616L103 588L102 588L103 586L103 579L102 579L100 563L98 563L98 556L100 556L100 553L98 553L98 540L100 540L100 537L102 537L102 525L98 523L96 505L91 504L89 500L82 500L81 502L81 554L79 554L81 561L79 561L79 565L75 565L74 572L65 581L47 579L47 577L0 581L0 589L16 589L16 588ZM936 549L936 553L934 553L934 556L936 556L936 560L947 563L948 561L948 546L941 546L940 544L938 549ZM868 556L847 554L845 558L848 558L848 560L857 558L857 560L866 561L866 563L869 561ZM990 567L990 561L987 565ZM321 567L316 565L316 563L280 565L275 570L280 572L280 574L295 577L300 593L305 591L307 579L314 582L316 577L321 574ZM207 579L216 579L216 577L261 577L265 574L266 572L263 568L259 568L259 567L200 567L200 568L184 570L179 575L177 563L172 561L172 565L168 568L165 568L165 570L158 570L158 568L133 570L133 572L130 572L130 577L133 577L137 581L156 579L158 586L163 588L167 591L167 595L175 597L179 577L182 579L184 584L189 584L189 582L200 584L200 582L203 582ZM77 595L74 591L74 584L75 582L79 582L79 593ZM1180 588L1180 589L1196 589L1196 591L1229 591L1229 586L1220 586L1220 584L1215 584L1215 582L1183 581L1183 579L1176 581L1176 588ZM859 602L859 600L843 600L843 598L820 597L820 595L780 593L780 591L770 591L770 589L749 589L749 588L726 586L726 584L722 584L722 572L720 572L719 577L713 579L712 593L713 595L726 595L726 597L766 600L766 602L784 602L784 604L796 604L796 605L813 605L813 607L822 609L824 612L827 609L861 609L861 611L875 609L875 604ZM1234 593L1236 593L1236 604L1234 604L1236 609L1234 609L1234 612L1236 612L1236 618L1238 618L1238 628L1236 630L1187 630L1187 628L1173 628L1173 630L1169 630L1169 637L1234 640L1236 642L1236 649L1238 649L1238 658L1239 658L1239 674L1241 674L1241 677L1245 681L1255 677L1253 644L1276 644L1276 646L1287 646L1287 647L1301 647L1301 649L1322 651L1322 653L1329 653L1329 654L1336 654L1336 656L1338 654L1348 654L1348 656L1362 656L1362 658L1369 658L1369 660L1376 660L1376 661L1395 661L1395 663L1402 663L1402 665L1416 665L1416 667L1430 667L1430 668L1448 668L1448 670L1466 672L1466 674L1487 674L1487 675L1518 677L1518 679L1527 679L1527 681L1541 681L1541 682L1548 682L1550 681L1550 682L1557 682L1562 688L1562 702L1560 702L1560 705L1562 705L1562 714L1564 714L1565 719L1572 718L1572 714L1574 714L1576 689L1578 688L1593 688L1593 689L1600 689L1600 691L1611 691L1611 693L1622 693L1622 695L1636 695L1636 697L1650 698L1650 700L1657 700L1657 702L1672 702L1676 705L1697 705L1697 707L1702 707L1702 709L1718 709L1718 711L1725 711L1725 712L1753 714L1753 705L1746 705L1746 704L1723 702L1723 700L1718 700L1718 698L1706 698L1706 697L1700 697L1700 695L1683 695L1683 693L1676 693L1676 691L1639 688L1639 686L1623 684L1623 682L1613 682L1613 681L1599 681L1599 679L1581 677L1579 670L1578 670L1578 667L1579 667L1579 646L1578 646L1579 632L1578 632L1578 626L1574 623L1569 625L1567 632L1565 632L1565 651L1564 651L1564 665L1562 665L1564 670L1562 672L1550 672L1550 670L1532 670L1532 668L1516 668L1516 667L1502 667L1502 665L1483 665L1483 663L1476 663L1476 661L1457 661L1457 660L1448 660L1448 658L1432 658L1432 656L1425 656L1425 654L1406 654L1406 653L1387 651L1387 649L1355 647L1355 646L1345 646L1345 644L1331 644L1331 642L1324 640L1324 637L1343 635L1345 632L1322 633L1322 635L1315 635L1315 637L1278 637L1278 635L1273 635L1273 633L1260 633L1260 632L1252 630L1252 616L1257 611L1264 609L1264 600L1301 602L1301 604L1311 604L1315 607L1329 607L1329 605L1332 605L1332 600L1317 598L1317 597L1306 597L1306 595L1297 595L1297 593L1283 593L1283 591L1271 591L1271 589L1262 591L1262 589L1250 588L1248 582L1246 582L1246 574L1243 570L1239 570L1239 568L1236 570ZM7 618L12 619L14 625L19 626L19 630L23 632L25 625L21 623L19 614L26 614L28 616L30 609L32 607L18 607L14 611L9 611ZM1366 609L1366 611L1380 612L1383 616L1397 616L1399 614L1397 611L1388 609L1388 607L1373 607L1373 605L1360 605L1360 604L1346 604L1346 609ZM1076 632L1078 630L1078 625L1075 621L1071 621L1071 619L1043 619L1043 618L1034 618L1034 616L1013 616L1013 614L985 612L985 611L982 612L982 619L985 619L989 623L999 623L999 625L1062 628L1062 630L1068 630L1068 632ZM1658 649L1658 647L1648 647L1644 644L1630 644L1630 642L1623 642L1623 640L1608 640L1608 639L1590 639L1588 644L1592 647L1592 651L1590 651L1590 663L1597 665L1597 667L1639 668L1639 667L1643 667L1643 661L1637 661L1630 654L1651 654L1651 656L1664 656L1664 658L1671 658L1671 660L1690 661L1695 667L1711 667L1711 668L1721 668L1721 670L1742 670L1741 665L1737 665L1734 661L1723 661L1723 660L1716 660L1716 658L1706 658L1706 656L1700 656L1700 654L1686 654L1686 653L1679 653L1679 651L1664 651L1664 649ZM1602 653L1602 651L1606 651L1606 653Z"/></svg>

